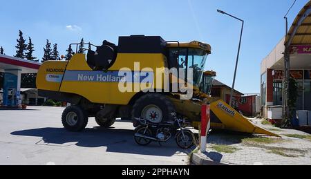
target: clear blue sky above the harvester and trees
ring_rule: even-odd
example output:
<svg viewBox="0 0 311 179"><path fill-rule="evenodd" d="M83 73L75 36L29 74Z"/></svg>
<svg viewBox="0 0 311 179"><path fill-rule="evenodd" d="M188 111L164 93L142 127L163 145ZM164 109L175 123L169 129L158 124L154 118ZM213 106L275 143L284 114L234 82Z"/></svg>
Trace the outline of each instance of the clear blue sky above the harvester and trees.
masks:
<svg viewBox="0 0 311 179"><path fill-rule="evenodd" d="M10 0L1 1L0 46L15 55L18 30L32 38L35 56L43 56L46 39L68 44L82 37L93 44L104 39L117 44L121 35L160 35L166 40L199 40L211 44L206 70L232 85L241 23L220 15L224 10L245 20L236 89L260 92L261 60L285 33L284 15L293 0ZM298 0L289 14L290 24L308 0Z"/></svg>

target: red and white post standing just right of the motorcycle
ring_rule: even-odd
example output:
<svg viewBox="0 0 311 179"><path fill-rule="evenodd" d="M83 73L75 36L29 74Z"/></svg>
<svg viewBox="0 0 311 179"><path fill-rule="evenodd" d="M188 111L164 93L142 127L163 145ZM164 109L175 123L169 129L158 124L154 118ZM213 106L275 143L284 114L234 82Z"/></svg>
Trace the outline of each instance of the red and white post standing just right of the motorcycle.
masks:
<svg viewBox="0 0 311 179"><path fill-rule="evenodd" d="M207 104L202 105L201 111L201 143L200 149L201 152L206 152L207 144L207 132L211 128L211 115L210 115L210 106Z"/></svg>

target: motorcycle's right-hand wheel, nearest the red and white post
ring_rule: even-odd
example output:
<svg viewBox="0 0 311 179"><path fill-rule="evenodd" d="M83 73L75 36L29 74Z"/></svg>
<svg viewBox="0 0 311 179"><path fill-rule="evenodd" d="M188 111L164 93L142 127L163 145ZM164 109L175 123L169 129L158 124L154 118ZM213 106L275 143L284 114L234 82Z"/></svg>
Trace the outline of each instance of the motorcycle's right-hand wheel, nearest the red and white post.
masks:
<svg viewBox="0 0 311 179"><path fill-rule="evenodd" d="M184 135L182 135L184 133ZM194 146L196 140L191 131L179 131L176 134L176 143L182 149L189 149Z"/></svg>

